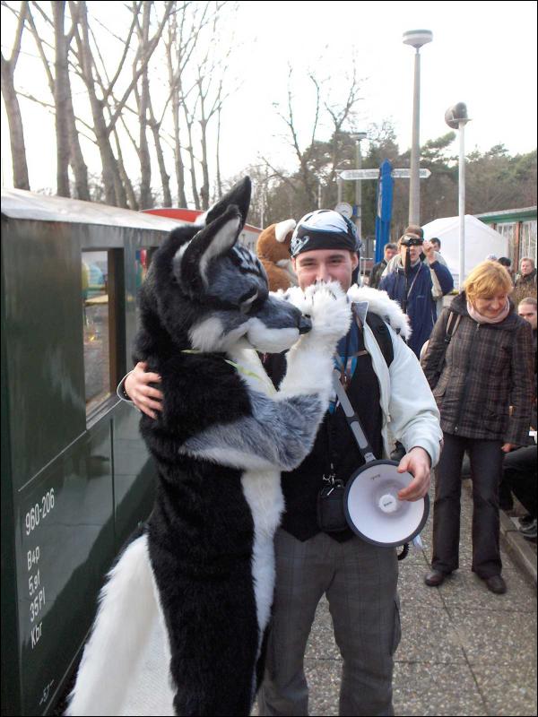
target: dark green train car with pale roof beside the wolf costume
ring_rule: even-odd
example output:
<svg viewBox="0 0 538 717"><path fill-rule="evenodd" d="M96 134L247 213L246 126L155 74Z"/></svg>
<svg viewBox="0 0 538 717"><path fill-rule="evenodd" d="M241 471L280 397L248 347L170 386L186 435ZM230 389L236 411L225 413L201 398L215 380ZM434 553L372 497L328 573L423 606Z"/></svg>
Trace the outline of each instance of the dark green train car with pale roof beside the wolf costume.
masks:
<svg viewBox="0 0 538 717"><path fill-rule="evenodd" d="M2 714L55 710L103 576L151 511L116 386L152 251L182 223L2 191Z"/></svg>

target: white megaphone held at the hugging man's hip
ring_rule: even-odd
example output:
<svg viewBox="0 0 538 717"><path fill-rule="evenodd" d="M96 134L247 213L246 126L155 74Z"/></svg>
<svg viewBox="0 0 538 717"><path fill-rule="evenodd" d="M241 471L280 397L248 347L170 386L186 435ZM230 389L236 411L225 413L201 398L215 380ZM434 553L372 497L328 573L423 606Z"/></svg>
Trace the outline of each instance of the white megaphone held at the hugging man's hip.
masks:
<svg viewBox="0 0 538 717"><path fill-rule="evenodd" d="M398 473L395 461L370 461L351 476L345 488L343 510L351 530L362 540L386 548L409 543L421 532L430 513L428 495L399 500L411 473Z"/></svg>

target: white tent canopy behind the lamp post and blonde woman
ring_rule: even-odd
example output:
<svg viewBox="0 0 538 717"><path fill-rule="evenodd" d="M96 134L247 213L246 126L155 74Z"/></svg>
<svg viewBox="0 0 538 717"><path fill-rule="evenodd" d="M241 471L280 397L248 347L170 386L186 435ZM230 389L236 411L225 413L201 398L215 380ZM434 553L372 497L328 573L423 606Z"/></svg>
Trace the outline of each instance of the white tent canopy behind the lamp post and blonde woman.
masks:
<svg viewBox="0 0 538 717"><path fill-rule="evenodd" d="M424 238L438 237L441 254L459 286L459 217L442 217L424 224ZM508 256L508 238L471 214L465 214L465 276L490 254Z"/></svg>

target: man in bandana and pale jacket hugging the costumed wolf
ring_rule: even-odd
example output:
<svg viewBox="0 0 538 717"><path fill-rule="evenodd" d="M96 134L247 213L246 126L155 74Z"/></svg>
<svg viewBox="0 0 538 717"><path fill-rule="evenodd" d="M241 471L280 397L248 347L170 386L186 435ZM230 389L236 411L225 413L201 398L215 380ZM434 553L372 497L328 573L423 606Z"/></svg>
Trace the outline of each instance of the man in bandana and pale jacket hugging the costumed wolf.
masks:
<svg viewBox="0 0 538 717"><path fill-rule="evenodd" d="M413 478L398 497L415 501L427 494L430 468L438 462L438 409L419 362L393 328L407 330L399 307L375 289L351 287L359 249L351 222L328 210L299 220L291 240L301 289L316 281L339 281L348 291L354 320L339 343L335 367L376 456L389 454L389 430L405 445L398 471L409 471ZM265 357L264 365L278 385L285 355ZM144 368L135 367L125 391L151 415L160 409L161 394L149 385L156 376ZM324 594L343 656L340 714L394 714L394 653L401 635L396 550L361 540L345 518L336 525L331 514L328 526L323 507L328 502L320 501L327 481L343 486L362 464L342 407L333 404L311 453L297 469L282 473L286 508L275 536L273 623L258 696L262 715L308 714L304 656Z"/></svg>

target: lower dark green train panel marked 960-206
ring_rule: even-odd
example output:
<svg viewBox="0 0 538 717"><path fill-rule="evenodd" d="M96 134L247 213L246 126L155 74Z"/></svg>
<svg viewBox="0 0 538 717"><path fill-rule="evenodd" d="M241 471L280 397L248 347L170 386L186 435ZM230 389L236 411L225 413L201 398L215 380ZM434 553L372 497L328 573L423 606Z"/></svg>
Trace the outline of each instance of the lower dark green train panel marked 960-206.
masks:
<svg viewBox="0 0 538 717"><path fill-rule="evenodd" d="M46 711L95 614L115 554L110 421L65 451L15 506L22 714Z"/></svg>

